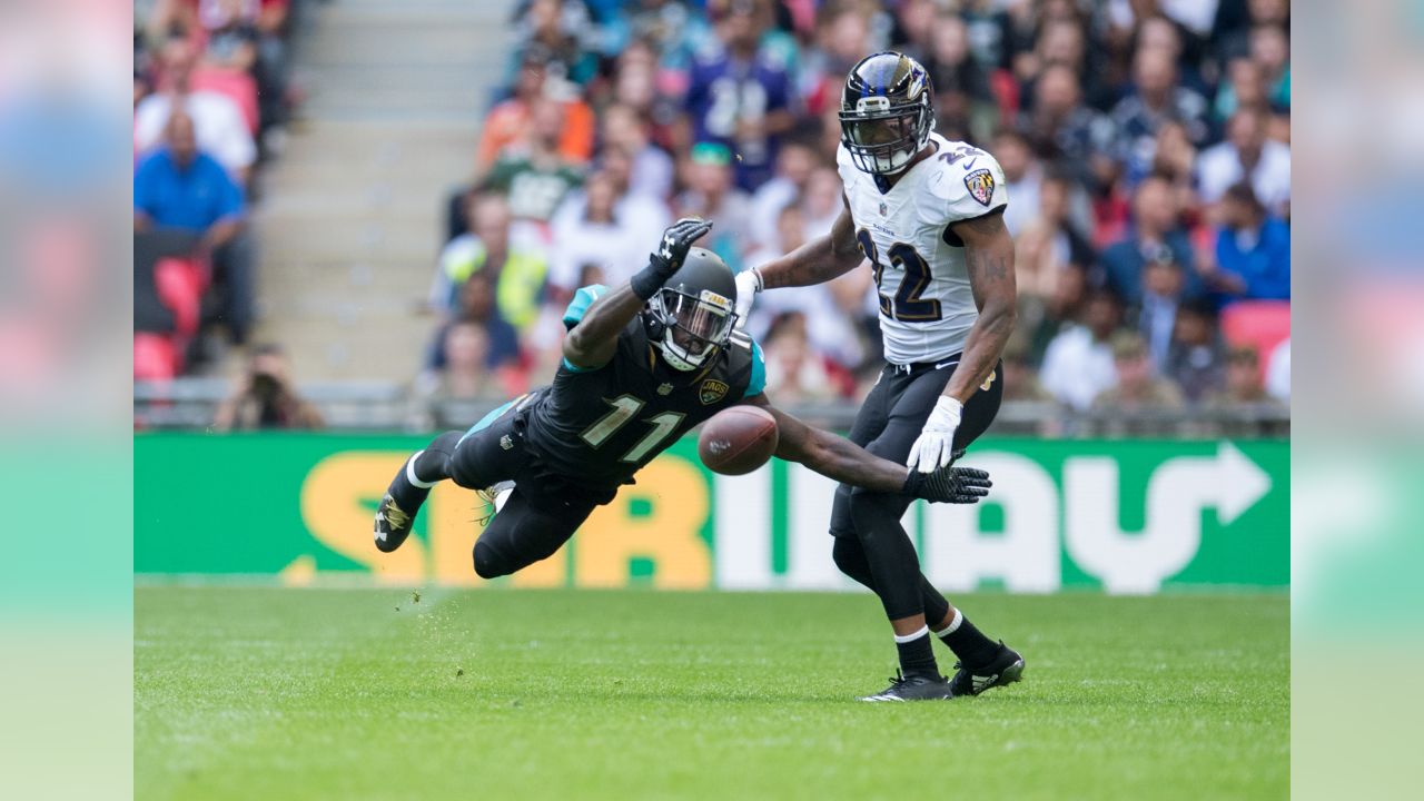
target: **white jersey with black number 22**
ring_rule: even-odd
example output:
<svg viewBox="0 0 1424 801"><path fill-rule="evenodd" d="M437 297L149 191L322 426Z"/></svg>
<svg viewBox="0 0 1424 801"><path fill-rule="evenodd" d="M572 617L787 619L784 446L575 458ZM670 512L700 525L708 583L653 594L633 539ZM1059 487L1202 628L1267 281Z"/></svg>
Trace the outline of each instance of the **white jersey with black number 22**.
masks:
<svg viewBox="0 0 1424 801"><path fill-rule="evenodd" d="M897 365L964 351L978 306L964 245L948 225L1008 204L1004 170L993 155L938 134L930 140L938 151L887 192L856 168L844 145L836 154L856 241L876 272L886 361Z"/></svg>

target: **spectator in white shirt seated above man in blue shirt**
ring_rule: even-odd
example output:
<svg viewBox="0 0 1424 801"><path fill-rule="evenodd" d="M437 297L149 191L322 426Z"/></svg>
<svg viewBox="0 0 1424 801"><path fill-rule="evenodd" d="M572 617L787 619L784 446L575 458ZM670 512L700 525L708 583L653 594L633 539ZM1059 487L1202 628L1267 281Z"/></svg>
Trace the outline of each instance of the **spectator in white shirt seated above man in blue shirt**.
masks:
<svg viewBox="0 0 1424 801"><path fill-rule="evenodd" d="M158 147L177 110L192 120L198 148L222 164L234 181L246 187L258 158L256 143L242 111L226 95L194 91L198 53L185 38L169 38L162 50L164 83L134 108L134 145L140 154Z"/></svg>

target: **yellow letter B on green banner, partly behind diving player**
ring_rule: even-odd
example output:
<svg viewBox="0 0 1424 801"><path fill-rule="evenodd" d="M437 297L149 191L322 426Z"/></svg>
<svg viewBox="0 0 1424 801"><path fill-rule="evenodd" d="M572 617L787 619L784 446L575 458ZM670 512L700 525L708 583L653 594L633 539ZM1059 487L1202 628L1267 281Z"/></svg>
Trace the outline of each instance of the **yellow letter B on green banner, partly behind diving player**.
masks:
<svg viewBox="0 0 1424 801"><path fill-rule="evenodd" d="M651 513L634 516L632 505ZM712 554L698 532L708 517L708 487L685 459L662 458L638 473L608 506L594 510L574 544L574 577L580 587L628 584L629 562L654 563L659 589L705 589L712 583ZM555 557L557 559L557 557Z"/></svg>

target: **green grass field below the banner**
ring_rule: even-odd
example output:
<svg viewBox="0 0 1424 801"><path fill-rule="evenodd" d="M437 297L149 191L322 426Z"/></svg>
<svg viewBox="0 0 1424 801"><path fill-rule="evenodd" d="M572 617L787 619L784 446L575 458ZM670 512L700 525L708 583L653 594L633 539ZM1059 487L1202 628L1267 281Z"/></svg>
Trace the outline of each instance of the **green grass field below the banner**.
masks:
<svg viewBox="0 0 1424 801"><path fill-rule="evenodd" d="M135 797L1287 795L1284 596L957 600L1021 684L856 703L870 594L142 587Z"/></svg>

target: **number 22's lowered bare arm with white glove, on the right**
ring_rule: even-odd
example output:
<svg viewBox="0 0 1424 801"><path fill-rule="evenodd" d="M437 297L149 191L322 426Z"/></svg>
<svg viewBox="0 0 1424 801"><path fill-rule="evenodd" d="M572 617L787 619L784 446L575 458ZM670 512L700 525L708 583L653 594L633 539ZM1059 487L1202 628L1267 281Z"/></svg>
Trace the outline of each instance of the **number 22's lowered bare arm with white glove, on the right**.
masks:
<svg viewBox="0 0 1424 801"><path fill-rule="evenodd" d="M910 446L907 465L921 473L954 460L954 430L964 403L994 372L1018 318L1018 285L1014 281L1014 239L1004 227L1002 207L950 225L964 241L964 264L980 316L964 342L964 355L948 386L934 403L920 438Z"/></svg>

